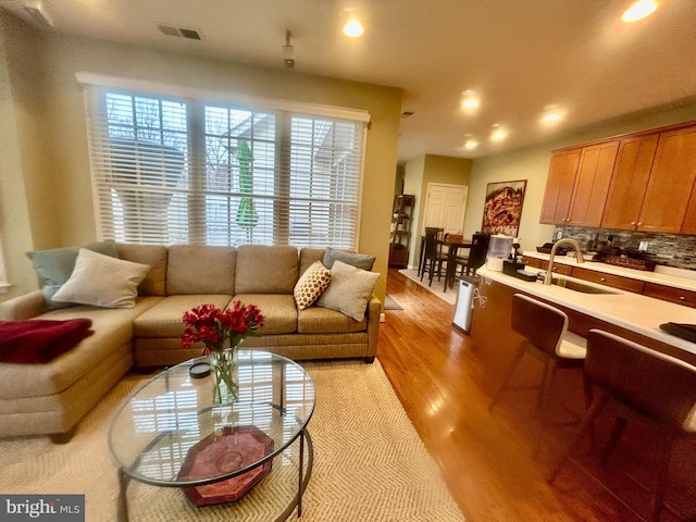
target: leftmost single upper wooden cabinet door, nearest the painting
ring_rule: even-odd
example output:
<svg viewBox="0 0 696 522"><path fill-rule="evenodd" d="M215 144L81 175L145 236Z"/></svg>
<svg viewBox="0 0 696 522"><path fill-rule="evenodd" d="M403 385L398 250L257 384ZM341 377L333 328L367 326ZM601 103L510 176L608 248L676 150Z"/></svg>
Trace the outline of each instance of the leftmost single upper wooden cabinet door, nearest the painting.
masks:
<svg viewBox="0 0 696 522"><path fill-rule="evenodd" d="M579 164L580 148L554 152L548 167L539 223L566 224Z"/></svg>

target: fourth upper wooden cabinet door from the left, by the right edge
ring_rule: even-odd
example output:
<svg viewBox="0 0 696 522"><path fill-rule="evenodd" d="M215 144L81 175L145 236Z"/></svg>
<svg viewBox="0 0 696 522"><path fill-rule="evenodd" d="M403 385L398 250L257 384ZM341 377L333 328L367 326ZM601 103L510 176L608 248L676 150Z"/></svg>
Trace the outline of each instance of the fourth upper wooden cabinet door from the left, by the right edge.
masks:
<svg viewBox="0 0 696 522"><path fill-rule="evenodd" d="M637 229L684 233L689 199L696 181L696 126L660 133ZM692 202L692 206L696 201Z"/></svg>

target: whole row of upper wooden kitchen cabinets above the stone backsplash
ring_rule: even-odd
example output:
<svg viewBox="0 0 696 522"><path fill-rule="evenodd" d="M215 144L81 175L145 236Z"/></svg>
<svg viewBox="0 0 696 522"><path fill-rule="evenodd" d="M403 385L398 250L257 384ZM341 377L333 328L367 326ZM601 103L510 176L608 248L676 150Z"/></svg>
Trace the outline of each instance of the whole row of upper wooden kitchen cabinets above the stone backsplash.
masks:
<svg viewBox="0 0 696 522"><path fill-rule="evenodd" d="M539 223L696 235L696 122L556 151Z"/></svg>

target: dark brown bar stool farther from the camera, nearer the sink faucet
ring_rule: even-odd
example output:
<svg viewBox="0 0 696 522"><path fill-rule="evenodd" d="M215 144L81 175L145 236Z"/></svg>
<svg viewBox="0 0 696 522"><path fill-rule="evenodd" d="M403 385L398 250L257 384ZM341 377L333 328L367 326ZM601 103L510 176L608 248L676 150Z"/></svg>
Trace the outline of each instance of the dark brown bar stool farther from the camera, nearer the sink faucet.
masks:
<svg viewBox="0 0 696 522"><path fill-rule="evenodd" d="M500 386L493 396L488 411L493 411L502 390L509 388L508 383L524 353L531 353L540 359L544 362L544 376L537 396L540 423L534 448L536 456L540 446L542 432L549 425L549 406L556 372L559 369L582 368L586 343L583 337L568 332L566 313L522 294L512 296L510 325L523 338ZM587 402L591 400L588 387L585 387L585 400Z"/></svg>

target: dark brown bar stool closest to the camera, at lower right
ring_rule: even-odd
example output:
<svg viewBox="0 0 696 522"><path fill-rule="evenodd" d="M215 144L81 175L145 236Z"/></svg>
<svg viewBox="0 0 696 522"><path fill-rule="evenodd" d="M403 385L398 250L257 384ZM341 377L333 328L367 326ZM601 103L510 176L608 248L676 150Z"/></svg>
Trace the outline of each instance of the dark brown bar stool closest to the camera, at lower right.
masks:
<svg viewBox="0 0 696 522"><path fill-rule="evenodd" d="M651 423L662 434L650 514L650 520L659 521L672 447L676 440L696 435L696 366L617 335L591 330L583 374L597 393L580 433L549 474L548 482L554 482L572 449L592 433L595 420L611 406L619 417L601 464L606 464L629 419Z"/></svg>

